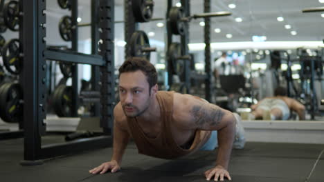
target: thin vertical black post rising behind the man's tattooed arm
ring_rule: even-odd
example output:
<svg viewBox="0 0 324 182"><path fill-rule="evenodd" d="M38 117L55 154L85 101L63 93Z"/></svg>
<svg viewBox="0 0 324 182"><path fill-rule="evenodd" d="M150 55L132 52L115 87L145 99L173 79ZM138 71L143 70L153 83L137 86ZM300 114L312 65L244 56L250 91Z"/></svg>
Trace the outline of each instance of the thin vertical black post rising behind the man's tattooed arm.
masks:
<svg viewBox="0 0 324 182"><path fill-rule="evenodd" d="M204 12L205 14L210 14L210 0L204 0ZM202 16L204 17L204 16ZM211 93L213 88L213 83L211 81L212 70L211 70L211 56L210 56L210 18L205 17L205 27L204 27L204 41L205 41L205 99L211 102Z"/></svg>

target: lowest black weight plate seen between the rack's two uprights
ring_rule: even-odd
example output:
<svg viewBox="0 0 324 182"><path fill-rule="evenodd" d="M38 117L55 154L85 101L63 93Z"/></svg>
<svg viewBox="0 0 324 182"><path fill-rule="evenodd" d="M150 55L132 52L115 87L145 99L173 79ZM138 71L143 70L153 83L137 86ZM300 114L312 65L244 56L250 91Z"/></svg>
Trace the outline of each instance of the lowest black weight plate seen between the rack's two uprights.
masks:
<svg viewBox="0 0 324 182"><path fill-rule="evenodd" d="M54 94L54 111L58 117L72 116L72 88L66 85L60 85Z"/></svg>

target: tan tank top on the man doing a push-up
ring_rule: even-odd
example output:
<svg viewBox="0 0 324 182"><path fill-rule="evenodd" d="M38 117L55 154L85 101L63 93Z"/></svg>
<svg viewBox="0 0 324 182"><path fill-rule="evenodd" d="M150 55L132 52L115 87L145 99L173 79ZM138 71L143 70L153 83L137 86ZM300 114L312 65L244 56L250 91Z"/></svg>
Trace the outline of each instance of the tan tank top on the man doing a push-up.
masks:
<svg viewBox="0 0 324 182"><path fill-rule="evenodd" d="M173 94L174 92L166 91L159 91L156 94L156 99L160 105L162 122L161 132L156 138L149 138L145 135L138 125L139 121L136 117L127 117L127 123L137 145L138 153L162 159L174 159L199 150L199 148L209 139L210 131L197 130L192 145L188 149L181 148L176 141L174 141L170 128L171 123L174 122L172 119Z"/></svg>

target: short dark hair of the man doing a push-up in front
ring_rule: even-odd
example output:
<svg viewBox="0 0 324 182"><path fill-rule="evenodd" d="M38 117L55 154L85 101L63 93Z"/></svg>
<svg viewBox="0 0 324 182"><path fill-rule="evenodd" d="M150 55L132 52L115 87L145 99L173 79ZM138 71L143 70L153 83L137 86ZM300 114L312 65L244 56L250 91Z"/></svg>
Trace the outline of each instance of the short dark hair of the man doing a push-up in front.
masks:
<svg viewBox="0 0 324 182"><path fill-rule="evenodd" d="M123 65L119 68L119 76L123 72L136 72L138 70L141 70L143 74L145 74L147 83L149 83L149 92L151 93L152 86L156 85L157 83L157 73L154 65L150 63L150 61L147 61L145 58L141 57L129 57Z"/></svg>

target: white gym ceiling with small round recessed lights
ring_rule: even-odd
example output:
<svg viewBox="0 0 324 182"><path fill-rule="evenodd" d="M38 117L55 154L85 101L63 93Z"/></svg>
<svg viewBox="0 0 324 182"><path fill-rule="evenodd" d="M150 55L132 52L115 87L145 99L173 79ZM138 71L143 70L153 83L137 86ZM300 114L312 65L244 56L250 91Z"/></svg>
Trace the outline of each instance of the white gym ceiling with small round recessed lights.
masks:
<svg viewBox="0 0 324 182"><path fill-rule="evenodd" d="M79 16L82 18L80 23L89 23L90 21L90 0L79 1ZM155 0L154 18L165 17L166 0ZM173 3L177 3L174 1ZM202 0L191 0L191 13L199 14L203 12ZM229 3L235 3L236 8L228 8ZM123 20L123 0L115 0L115 20ZM324 39L324 18L321 12L303 13L305 8L324 6L318 0L212 0L211 11L230 11L230 17L212 18L211 23L211 41L212 42L235 42L252 41L253 35L266 36L267 41L322 41ZM323 12L324 13L324 12ZM64 43L58 36L58 21L65 14L70 14L68 10L62 10L57 5L57 1L46 1L46 40L48 43ZM277 21L277 17L282 16L285 21ZM241 17L242 22L237 23L236 17ZM203 19L193 19L190 23L190 43L204 42L204 28L199 26ZM145 32L155 32L154 37L158 41L165 39L165 27L158 28L156 23L141 23L140 29ZM295 36L291 35L291 30L286 30L285 25L291 25L291 30L297 32ZM213 30L220 28L220 33ZM123 23L115 24L116 39L124 39ZM226 34L232 34L231 39L226 38ZM6 38L12 36L12 32L7 31ZM90 38L90 28L80 28L80 39Z"/></svg>

